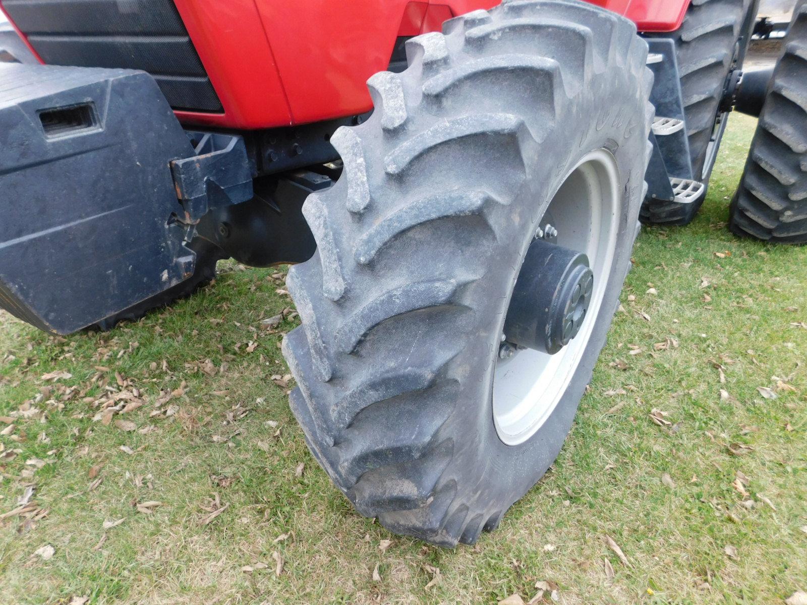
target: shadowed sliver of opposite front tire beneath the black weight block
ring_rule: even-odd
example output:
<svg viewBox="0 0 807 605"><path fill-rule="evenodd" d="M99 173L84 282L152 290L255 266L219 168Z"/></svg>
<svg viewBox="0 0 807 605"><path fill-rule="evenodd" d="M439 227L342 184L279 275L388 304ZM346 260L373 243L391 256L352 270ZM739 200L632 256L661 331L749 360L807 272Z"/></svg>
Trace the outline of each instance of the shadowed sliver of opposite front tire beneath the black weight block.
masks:
<svg viewBox="0 0 807 605"><path fill-rule="evenodd" d="M194 294L196 290L207 286L215 279L215 265L218 261L227 257L221 248L211 244L207 240L196 238L188 246L191 250L196 252L196 266L194 274L184 282L178 283L176 286L161 292L151 298L146 298L144 301L132 305L123 311L110 315L102 319L98 323L87 326L85 331L88 332L109 332L123 321L137 321L144 317L149 311L168 307L169 305L187 298Z"/></svg>

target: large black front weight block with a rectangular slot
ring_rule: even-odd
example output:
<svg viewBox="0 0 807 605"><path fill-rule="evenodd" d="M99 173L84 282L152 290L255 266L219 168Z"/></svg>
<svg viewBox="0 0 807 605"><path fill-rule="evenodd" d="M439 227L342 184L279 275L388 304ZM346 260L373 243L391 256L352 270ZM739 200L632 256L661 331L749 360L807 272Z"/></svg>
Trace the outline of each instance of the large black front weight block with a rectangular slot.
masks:
<svg viewBox="0 0 807 605"><path fill-rule="evenodd" d="M68 334L190 277L190 156L147 73L0 64L0 307Z"/></svg>

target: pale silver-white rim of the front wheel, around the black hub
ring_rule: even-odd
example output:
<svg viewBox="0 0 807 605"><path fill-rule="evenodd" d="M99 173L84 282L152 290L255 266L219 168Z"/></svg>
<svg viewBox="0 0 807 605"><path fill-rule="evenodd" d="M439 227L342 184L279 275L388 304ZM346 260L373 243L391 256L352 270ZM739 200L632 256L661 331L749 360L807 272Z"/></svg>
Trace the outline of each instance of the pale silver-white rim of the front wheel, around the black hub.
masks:
<svg viewBox="0 0 807 605"><path fill-rule="evenodd" d="M563 179L547 207L558 245L587 254L594 290L579 334L554 355L532 349L496 357L493 420L500 440L529 440L552 415L574 376L600 315L617 248L622 199L617 161L606 149L583 157Z"/></svg>

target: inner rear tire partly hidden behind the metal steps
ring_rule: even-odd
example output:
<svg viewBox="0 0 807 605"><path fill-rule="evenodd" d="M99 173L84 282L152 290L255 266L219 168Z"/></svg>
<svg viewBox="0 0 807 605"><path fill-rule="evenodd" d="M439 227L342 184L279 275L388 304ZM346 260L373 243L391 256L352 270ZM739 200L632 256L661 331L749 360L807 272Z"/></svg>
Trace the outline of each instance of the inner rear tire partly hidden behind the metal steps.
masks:
<svg viewBox="0 0 807 605"><path fill-rule="evenodd" d="M692 174L707 186L714 165L713 161L706 165L709 141L717 119L724 123L729 119L728 113L721 112L723 91L738 42L744 35L747 37L746 26L753 26L749 13L754 9L753 0L692 0L678 31L647 35L675 40ZM642 222L686 225L695 219L705 198L706 190L688 204L649 199L642 208Z"/></svg>

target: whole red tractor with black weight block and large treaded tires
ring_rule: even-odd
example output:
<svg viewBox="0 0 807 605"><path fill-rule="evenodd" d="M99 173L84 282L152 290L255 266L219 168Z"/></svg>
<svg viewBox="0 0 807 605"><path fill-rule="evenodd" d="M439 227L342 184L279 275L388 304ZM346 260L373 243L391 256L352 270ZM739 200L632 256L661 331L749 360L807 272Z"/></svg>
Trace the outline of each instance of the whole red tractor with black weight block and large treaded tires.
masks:
<svg viewBox="0 0 807 605"><path fill-rule="evenodd" d="M640 220L692 220L771 80L739 86L755 0L495 4L0 0L31 53L0 64L0 307L108 329L220 259L295 265L316 460L391 531L473 543L557 456ZM787 48L731 225L803 243Z"/></svg>

